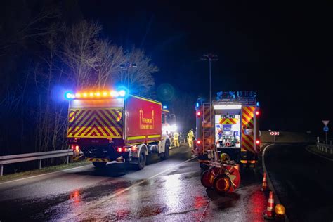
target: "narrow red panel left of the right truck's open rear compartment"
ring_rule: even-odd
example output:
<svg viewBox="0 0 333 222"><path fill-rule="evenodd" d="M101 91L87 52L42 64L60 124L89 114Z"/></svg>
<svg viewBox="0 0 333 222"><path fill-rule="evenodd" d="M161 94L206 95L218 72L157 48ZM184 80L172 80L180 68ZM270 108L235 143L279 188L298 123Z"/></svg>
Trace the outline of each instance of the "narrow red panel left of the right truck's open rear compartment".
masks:
<svg viewBox="0 0 333 222"><path fill-rule="evenodd" d="M211 105L209 103L202 104L202 147L203 152L212 150L214 145L212 131L213 131L213 113L211 113Z"/></svg>

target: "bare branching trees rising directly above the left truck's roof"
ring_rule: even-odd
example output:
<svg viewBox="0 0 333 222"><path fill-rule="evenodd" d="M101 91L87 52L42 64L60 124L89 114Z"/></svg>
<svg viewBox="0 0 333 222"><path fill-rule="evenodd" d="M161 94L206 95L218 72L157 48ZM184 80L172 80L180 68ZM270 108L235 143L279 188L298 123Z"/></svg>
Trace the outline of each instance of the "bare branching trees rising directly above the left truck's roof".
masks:
<svg viewBox="0 0 333 222"><path fill-rule="evenodd" d="M120 64L131 61L138 66L130 70L131 92L142 96L153 94L154 78L158 71L143 50L131 48L124 52L122 47L100 39L101 26L96 22L82 21L66 32L63 60L70 67L75 87L105 89L128 81L128 74L120 70Z"/></svg>

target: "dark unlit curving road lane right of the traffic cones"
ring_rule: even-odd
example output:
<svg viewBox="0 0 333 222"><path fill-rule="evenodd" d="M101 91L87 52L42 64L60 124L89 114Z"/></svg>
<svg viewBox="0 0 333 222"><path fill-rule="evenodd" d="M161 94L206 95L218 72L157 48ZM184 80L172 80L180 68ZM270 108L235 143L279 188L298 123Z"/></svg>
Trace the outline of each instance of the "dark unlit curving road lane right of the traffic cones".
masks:
<svg viewBox="0 0 333 222"><path fill-rule="evenodd" d="M333 162L303 144L275 144L265 163L289 221L333 221Z"/></svg>

